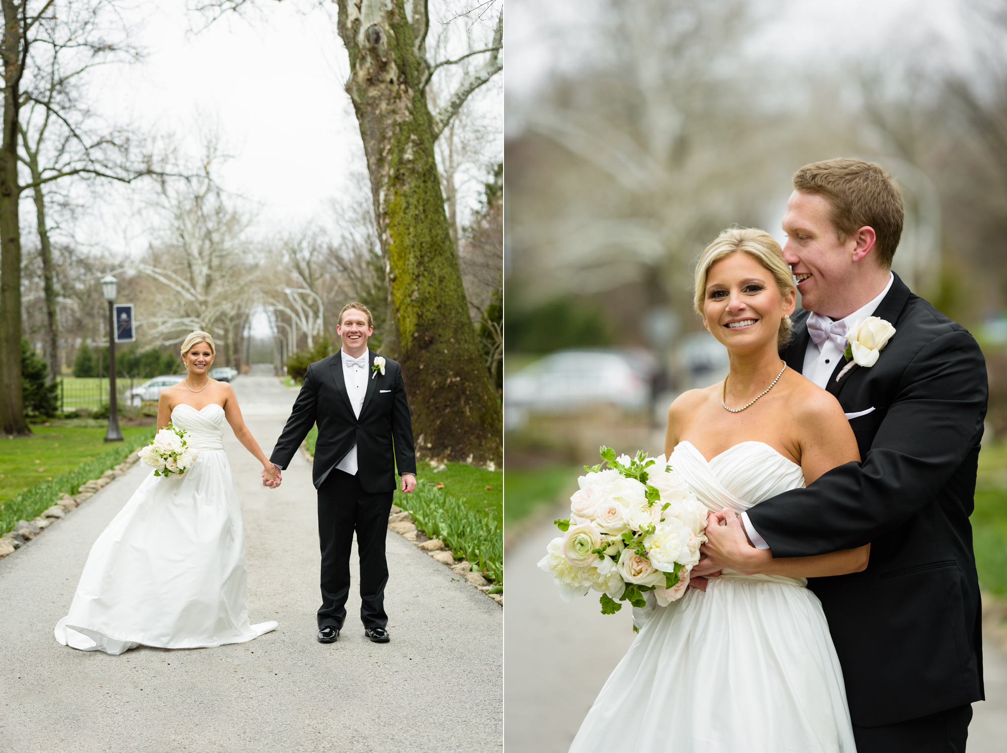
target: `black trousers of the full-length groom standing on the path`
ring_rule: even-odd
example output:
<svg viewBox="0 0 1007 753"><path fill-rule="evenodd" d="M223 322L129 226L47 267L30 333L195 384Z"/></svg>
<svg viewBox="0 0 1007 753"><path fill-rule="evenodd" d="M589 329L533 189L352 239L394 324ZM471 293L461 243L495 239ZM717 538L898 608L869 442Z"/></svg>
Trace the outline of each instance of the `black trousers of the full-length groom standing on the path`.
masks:
<svg viewBox="0 0 1007 753"><path fill-rule="evenodd" d="M342 628L349 596L349 551L356 534L361 560L361 621L385 627L388 562L385 537L394 492L368 493L357 476L333 468L318 489L318 540L321 546L321 606L318 627Z"/></svg>

